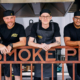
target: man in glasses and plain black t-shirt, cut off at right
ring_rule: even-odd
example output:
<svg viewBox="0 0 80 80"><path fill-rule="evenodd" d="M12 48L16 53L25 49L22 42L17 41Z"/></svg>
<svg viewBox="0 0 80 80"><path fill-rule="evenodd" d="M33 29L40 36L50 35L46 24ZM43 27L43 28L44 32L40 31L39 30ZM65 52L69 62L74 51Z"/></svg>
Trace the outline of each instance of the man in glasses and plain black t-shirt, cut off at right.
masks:
<svg viewBox="0 0 80 80"><path fill-rule="evenodd" d="M64 28L64 41L66 46L80 46L80 11L76 11L73 17L73 23ZM78 60L78 50L75 56L69 56L68 60ZM69 51L72 53L72 51ZM72 64L67 64L68 72L73 78ZM80 80L80 64L75 64L75 80ZM73 80L73 79L72 79Z"/></svg>

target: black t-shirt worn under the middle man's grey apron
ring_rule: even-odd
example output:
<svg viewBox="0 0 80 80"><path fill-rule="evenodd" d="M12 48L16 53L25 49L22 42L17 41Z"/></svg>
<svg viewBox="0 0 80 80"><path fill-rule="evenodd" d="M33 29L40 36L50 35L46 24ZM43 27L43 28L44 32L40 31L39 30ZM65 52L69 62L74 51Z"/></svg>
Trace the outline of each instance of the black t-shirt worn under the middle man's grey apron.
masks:
<svg viewBox="0 0 80 80"><path fill-rule="evenodd" d="M49 27L47 29L44 29L42 27L42 24L39 23L39 29L43 30L43 31L52 31L52 24L54 25L54 37L60 37L60 29L59 29L59 25L55 22L53 23L49 23ZM30 37L36 37L37 36L37 26L38 23L34 23L31 29L31 34Z"/></svg>

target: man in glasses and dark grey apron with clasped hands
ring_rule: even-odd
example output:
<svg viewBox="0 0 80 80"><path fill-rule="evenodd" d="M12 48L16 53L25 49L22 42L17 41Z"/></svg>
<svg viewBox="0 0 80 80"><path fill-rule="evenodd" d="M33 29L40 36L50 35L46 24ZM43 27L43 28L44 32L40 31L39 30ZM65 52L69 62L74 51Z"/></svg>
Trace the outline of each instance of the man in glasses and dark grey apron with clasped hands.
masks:
<svg viewBox="0 0 80 80"><path fill-rule="evenodd" d="M32 26L31 35L28 41L29 46L42 48L43 50L40 52L40 55L45 60L45 51L49 50L51 47L59 46L60 42L60 32L59 26L57 23L50 23L52 19L51 12L48 9L44 9L40 12L40 23L35 23ZM36 38L37 43L34 42ZM55 39L55 41L54 41ZM49 58L55 58L55 52L49 51L53 53L49 56ZM37 61L40 61L38 57L36 57ZM57 66L54 65L54 80L57 80ZM43 65L43 77L48 77L51 80L51 64ZM41 80L41 65L35 64L35 77L34 80Z"/></svg>

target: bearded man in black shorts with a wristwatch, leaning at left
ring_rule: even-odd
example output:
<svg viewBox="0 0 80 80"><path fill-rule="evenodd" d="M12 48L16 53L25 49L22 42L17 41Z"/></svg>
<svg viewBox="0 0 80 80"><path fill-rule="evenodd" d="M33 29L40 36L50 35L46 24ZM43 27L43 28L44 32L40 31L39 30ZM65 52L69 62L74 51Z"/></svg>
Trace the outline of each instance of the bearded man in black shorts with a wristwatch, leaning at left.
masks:
<svg viewBox="0 0 80 80"><path fill-rule="evenodd" d="M4 24L0 25L0 37L2 44L0 43L1 54L6 54L7 60L14 60L14 54L9 56L8 54L15 47L26 45L26 36L24 27L21 24L15 23L14 11L4 11ZM20 80L20 66L19 64L13 64L13 72L15 80ZM5 64L4 68L5 79L10 80L10 65Z"/></svg>

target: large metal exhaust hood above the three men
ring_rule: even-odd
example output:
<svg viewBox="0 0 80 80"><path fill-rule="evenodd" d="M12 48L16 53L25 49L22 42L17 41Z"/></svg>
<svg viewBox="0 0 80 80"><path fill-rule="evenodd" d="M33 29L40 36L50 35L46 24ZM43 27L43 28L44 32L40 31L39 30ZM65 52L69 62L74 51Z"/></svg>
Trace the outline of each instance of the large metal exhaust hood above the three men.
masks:
<svg viewBox="0 0 80 80"><path fill-rule="evenodd" d="M17 17L36 17L47 8L52 16L64 16L72 12L73 3L74 0L0 0L0 12L3 14L5 10L13 10Z"/></svg>

